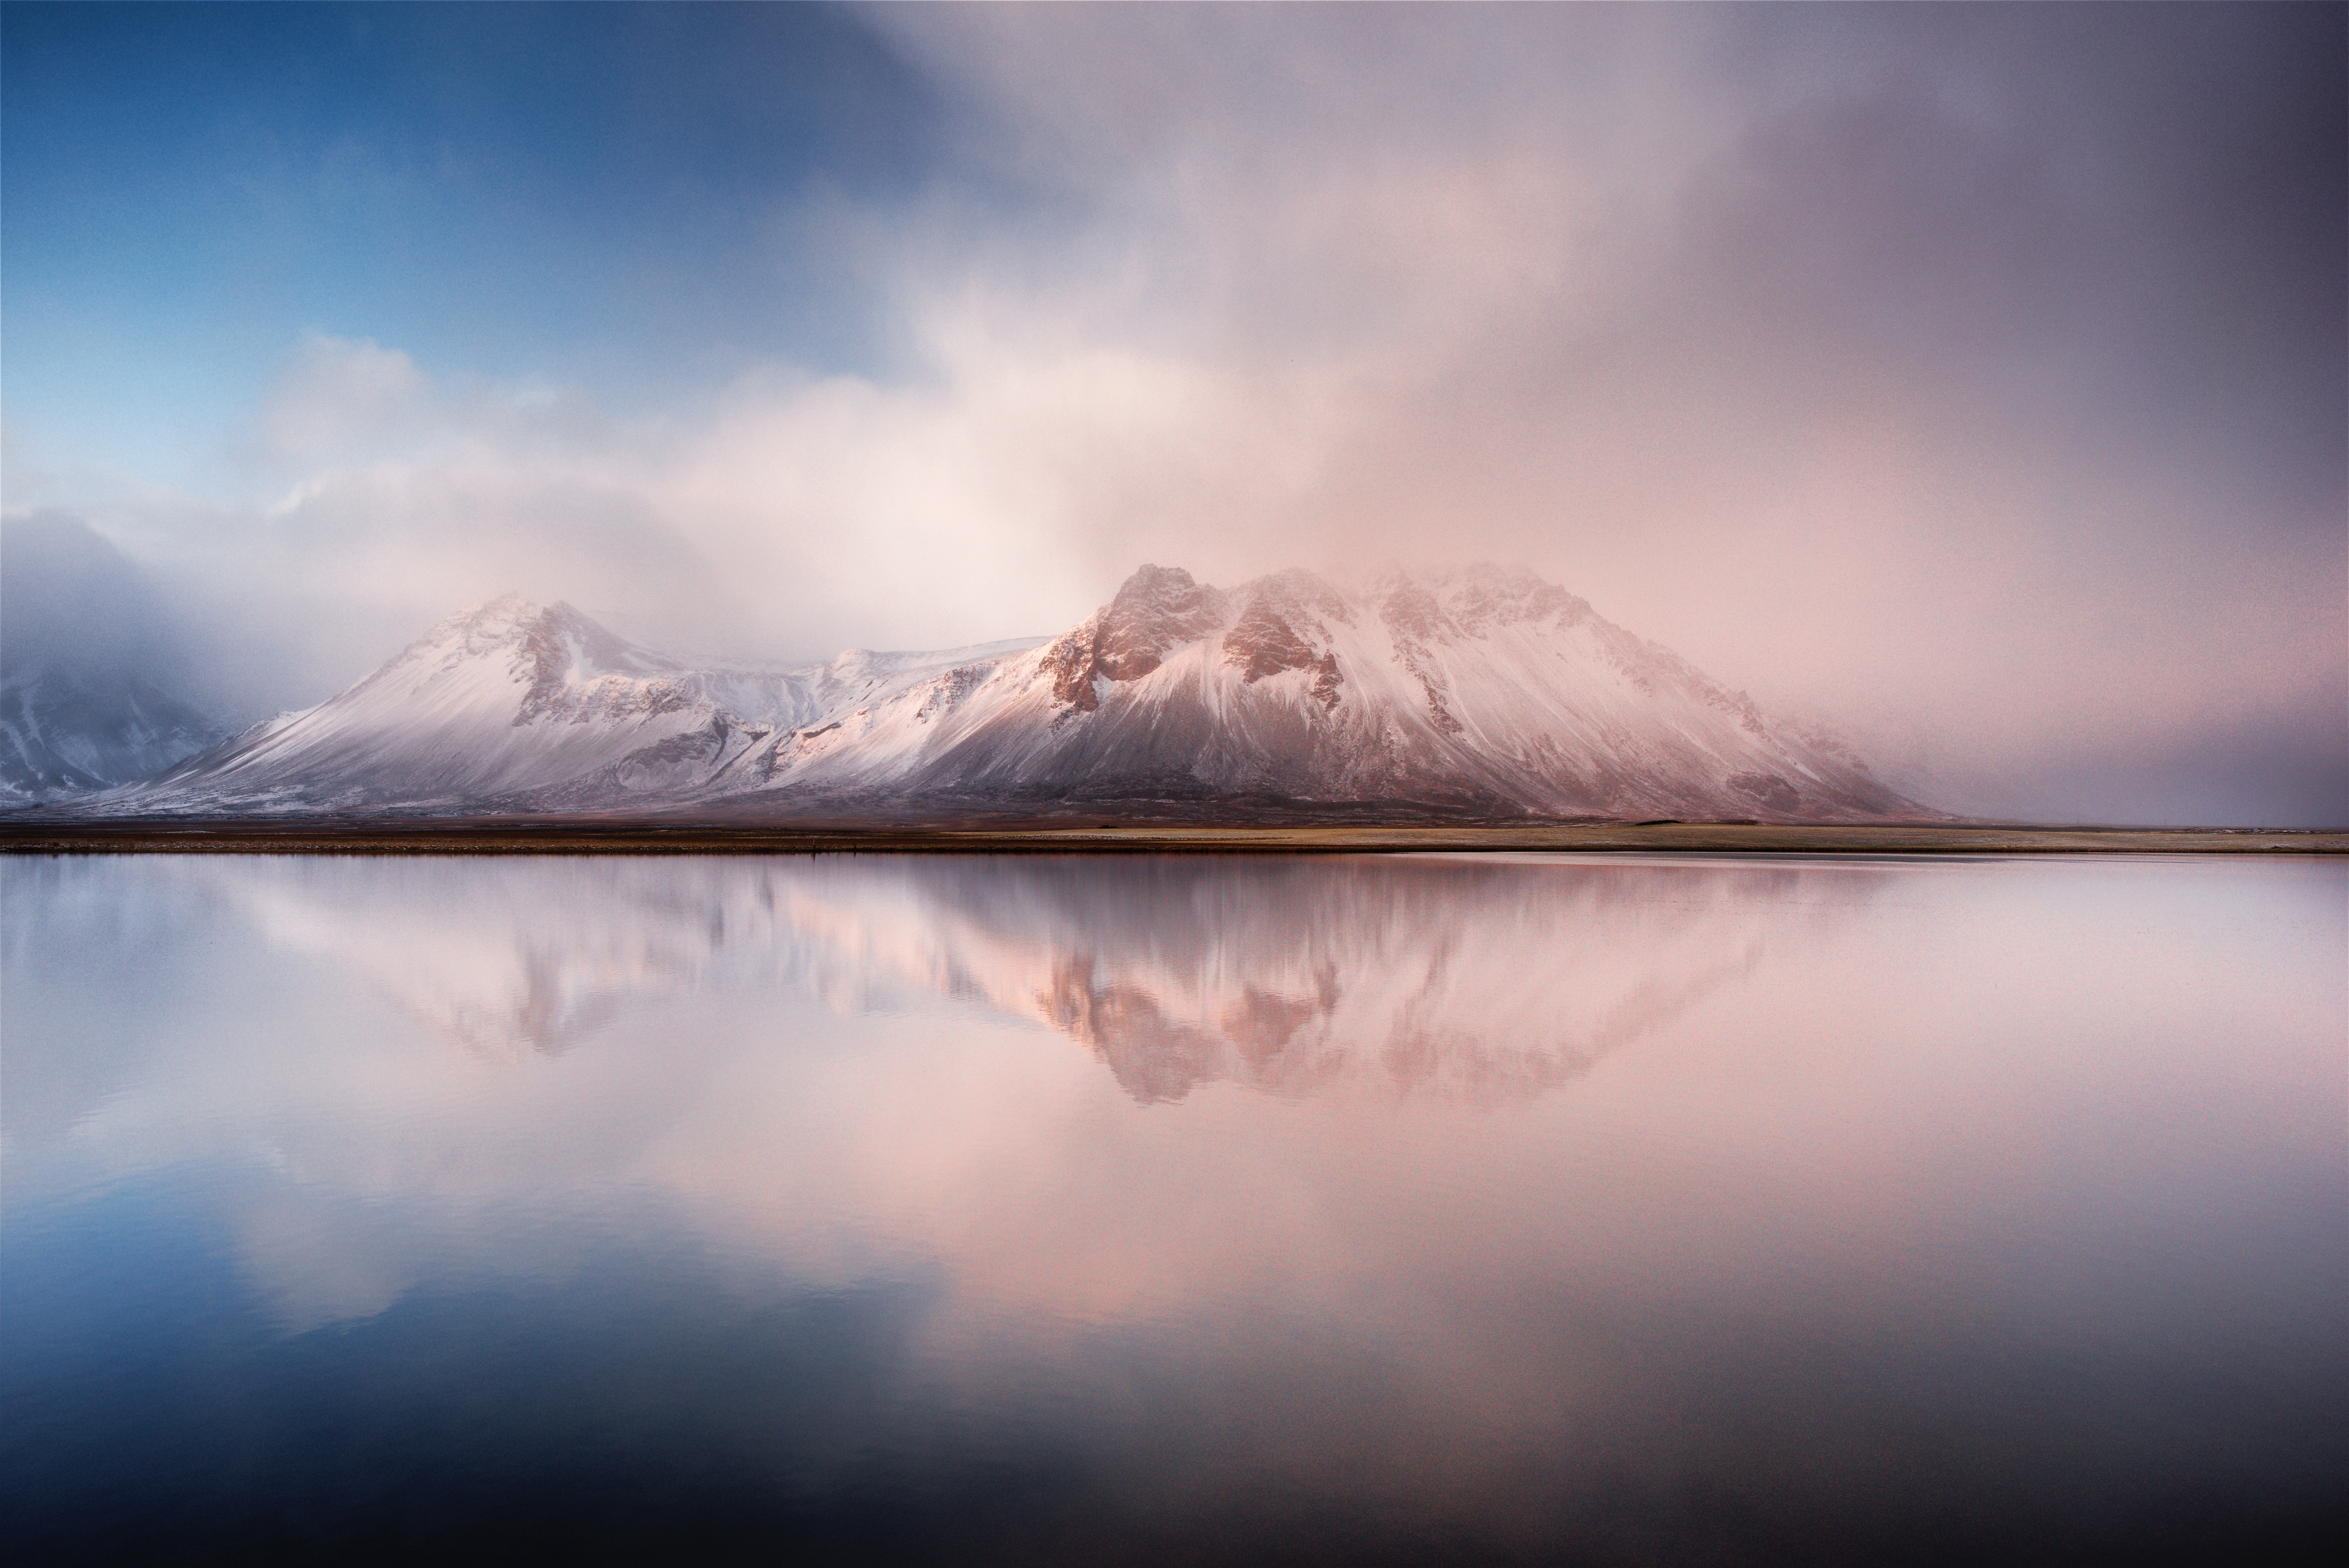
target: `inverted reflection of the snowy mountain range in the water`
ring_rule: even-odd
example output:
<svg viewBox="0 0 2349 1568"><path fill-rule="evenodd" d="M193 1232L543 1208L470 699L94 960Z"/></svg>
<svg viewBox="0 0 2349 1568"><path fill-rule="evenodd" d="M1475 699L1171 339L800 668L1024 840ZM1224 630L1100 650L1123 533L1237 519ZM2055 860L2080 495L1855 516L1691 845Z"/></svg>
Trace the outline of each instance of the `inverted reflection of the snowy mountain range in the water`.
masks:
<svg viewBox="0 0 2349 1568"><path fill-rule="evenodd" d="M442 1039L557 1053L693 987L1031 1018L1142 1103L1210 1081L1536 1095L1818 940L1844 867L1442 858L211 860L272 945Z"/></svg>

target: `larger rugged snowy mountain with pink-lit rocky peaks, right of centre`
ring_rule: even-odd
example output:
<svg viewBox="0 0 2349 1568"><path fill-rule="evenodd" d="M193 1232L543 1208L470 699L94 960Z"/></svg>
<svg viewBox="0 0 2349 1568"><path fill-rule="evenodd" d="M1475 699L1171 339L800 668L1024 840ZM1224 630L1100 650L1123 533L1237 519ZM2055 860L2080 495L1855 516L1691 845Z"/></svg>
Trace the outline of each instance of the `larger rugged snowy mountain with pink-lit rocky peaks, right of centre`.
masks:
<svg viewBox="0 0 2349 1568"><path fill-rule="evenodd" d="M1529 571L1386 569L1351 592L1142 567L984 677L775 736L768 788L975 799L1423 802L1494 813L1919 813L1828 736L1769 724Z"/></svg>

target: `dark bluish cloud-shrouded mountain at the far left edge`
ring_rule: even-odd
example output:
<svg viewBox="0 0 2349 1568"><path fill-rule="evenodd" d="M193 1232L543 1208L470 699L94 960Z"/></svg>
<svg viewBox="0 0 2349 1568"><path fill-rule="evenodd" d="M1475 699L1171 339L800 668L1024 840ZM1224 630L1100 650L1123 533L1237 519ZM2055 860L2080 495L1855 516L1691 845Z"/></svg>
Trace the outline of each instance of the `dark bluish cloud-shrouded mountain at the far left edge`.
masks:
<svg viewBox="0 0 2349 1568"><path fill-rule="evenodd" d="M120 550L56 512L0 527L0 804L146 778L230 729Z"/></svg>

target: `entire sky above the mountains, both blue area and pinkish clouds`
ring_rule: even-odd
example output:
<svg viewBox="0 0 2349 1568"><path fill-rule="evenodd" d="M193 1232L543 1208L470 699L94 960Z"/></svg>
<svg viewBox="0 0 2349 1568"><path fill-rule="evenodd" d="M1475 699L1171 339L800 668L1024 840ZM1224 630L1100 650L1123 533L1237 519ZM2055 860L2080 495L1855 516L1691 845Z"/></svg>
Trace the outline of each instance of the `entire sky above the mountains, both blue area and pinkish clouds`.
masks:
<svg viewBox="0 0 2349 1568"><path fill-rule="evenodd" d="M256 712L1501 559L1938 804L2342 823L2344 16L9 2L0 510Z"/></svg>

